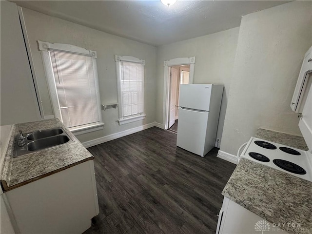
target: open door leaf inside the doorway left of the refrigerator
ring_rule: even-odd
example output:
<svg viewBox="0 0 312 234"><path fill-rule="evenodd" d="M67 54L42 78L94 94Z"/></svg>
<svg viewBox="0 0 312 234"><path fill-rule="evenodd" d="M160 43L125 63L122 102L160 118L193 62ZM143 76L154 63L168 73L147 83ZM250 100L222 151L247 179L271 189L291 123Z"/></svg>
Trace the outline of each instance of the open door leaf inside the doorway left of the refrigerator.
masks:
<svg viewBox="0 0 312 234"><path fill-rule="evenodd" d="M176 86L178 70L172 67L170 74L170 111L168 128L170 128L176 120Z"/></svg>

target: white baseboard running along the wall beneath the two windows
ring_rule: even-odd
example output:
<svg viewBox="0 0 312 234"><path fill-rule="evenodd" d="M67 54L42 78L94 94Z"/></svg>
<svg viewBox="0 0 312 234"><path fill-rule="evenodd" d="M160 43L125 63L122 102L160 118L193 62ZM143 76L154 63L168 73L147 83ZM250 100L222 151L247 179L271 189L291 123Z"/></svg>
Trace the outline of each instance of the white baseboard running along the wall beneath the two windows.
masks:
<svg viewBox="0 0 312 234"><path fill-rule="evenodd" d="M128 130L125 130L125 131L122 131L122 132L119 132L119 133L114 133L114 134L111 134L111 135L108 135L108 136L105 136L105 137L99 137L97 139L88 140L88 141L82 142L82 145L84 147L88 148L88 147L95 146L95 145L98 145L98 144L101 144L101 143L104 143L104 142L107 142L107 141L110 141L110 140L115 140L115 139L117 139L119 137L125 137L127 135L130 135L130 134L133 134L133 133L137 133L137 132L140 132L140 131L148 129L148 128L152 128L154 126L155 126L155 122L148 123L148 124L145 124L145 125L142 125L142 126L138 126L136 128L131 128L131 129L128 129Z"/></svg>

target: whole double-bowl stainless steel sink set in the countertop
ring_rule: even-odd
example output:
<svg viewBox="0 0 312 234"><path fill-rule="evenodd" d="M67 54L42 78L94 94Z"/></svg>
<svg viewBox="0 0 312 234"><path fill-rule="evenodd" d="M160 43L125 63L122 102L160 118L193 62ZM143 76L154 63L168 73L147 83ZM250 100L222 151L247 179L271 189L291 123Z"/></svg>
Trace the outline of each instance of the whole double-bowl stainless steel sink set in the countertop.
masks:
<svg viewBox="0 0 312 234"><path fill-rule="evenodd" d="M39 130L25 135L25 144L22 146L19 146L20 135L15 137L13 157L28 155L40 150L73 142L61 127Z"/></svg>

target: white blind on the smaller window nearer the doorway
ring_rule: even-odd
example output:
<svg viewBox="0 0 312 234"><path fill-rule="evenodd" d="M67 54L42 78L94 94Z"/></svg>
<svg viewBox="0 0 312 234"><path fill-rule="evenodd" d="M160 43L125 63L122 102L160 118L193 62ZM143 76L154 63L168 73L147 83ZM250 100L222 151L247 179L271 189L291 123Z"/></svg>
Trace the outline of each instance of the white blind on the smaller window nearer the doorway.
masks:
<svg viewBox="0 0 312 234"><path fill-rule="evenodd" d="M121 101L123 118L144 113L144 66L140 63L120 61Z"/></svg>

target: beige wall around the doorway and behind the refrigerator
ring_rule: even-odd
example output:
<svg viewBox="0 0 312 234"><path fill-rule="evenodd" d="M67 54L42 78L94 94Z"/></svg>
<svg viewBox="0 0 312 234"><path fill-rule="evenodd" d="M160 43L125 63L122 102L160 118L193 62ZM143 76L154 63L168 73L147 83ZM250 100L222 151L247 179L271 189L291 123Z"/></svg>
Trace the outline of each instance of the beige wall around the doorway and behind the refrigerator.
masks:
<svg viewBox="0 0 312 234"><path fill-rule="evenodd" d="M231 84L235 50L239 28L207 36L183 40L157 48L157 111L156 122L163 123L162 110L164 87L164 60L179 57L196 57L194 83L216 83L225 86L217 138L222 137L222 129Z"/></svg>

